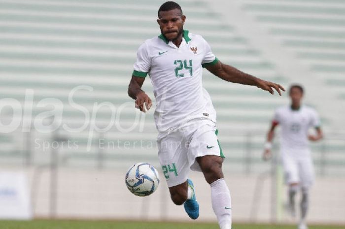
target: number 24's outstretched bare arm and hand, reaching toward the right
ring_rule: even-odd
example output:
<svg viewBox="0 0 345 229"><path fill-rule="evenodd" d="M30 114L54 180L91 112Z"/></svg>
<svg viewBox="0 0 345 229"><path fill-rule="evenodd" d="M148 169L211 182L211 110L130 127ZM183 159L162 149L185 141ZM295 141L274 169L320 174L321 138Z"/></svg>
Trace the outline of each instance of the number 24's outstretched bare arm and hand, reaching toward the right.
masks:
<svg viewBox="0 0 345 229"><path fill-rule="evenodd" d="M226 80L232 83L253 85L258 88L261 88L262 90L270 92L272 95L274 94L274 89L278 92L280 96L281 96L280 90L285 92L285 89L279 84L259 79L255 76L244 73L233 66L225 65L221 63L220 61L218 61L214 65L207 65L206 68L212 74L218 76L219 78L223 80Z"/></svg>

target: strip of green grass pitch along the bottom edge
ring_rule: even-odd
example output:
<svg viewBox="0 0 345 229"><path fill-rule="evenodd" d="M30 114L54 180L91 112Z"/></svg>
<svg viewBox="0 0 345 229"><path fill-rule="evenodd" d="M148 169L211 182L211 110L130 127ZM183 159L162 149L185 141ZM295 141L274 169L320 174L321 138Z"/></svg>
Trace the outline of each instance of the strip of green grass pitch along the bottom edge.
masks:
<svg viewBox="0 0 345 229"><path fill-rule="evenodd" d="M234 229L296 229L293 225L234 224ZM0 229L219 229L217 224L81 220L0 221ZM345 229L345 226L313 226L309 229Z"/></svg>

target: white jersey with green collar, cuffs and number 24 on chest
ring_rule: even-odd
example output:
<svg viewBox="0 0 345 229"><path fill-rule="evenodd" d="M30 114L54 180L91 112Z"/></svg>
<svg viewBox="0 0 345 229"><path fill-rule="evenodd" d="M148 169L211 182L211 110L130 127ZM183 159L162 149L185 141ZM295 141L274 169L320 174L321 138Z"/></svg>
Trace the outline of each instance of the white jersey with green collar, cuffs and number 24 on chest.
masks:
<svg viewBox="0 0 345 229"><path fill-rule="evenodd" d="M216 122L211 99L202 85L202 72L203 67L217 62L207 41L186 30L179 47L162 34L139 47L133 75L146 77L149 74L151 78L158 131L195 118Z"/></svg>

